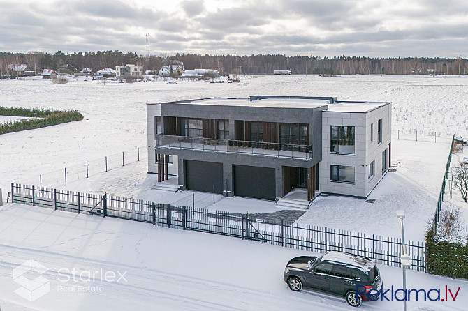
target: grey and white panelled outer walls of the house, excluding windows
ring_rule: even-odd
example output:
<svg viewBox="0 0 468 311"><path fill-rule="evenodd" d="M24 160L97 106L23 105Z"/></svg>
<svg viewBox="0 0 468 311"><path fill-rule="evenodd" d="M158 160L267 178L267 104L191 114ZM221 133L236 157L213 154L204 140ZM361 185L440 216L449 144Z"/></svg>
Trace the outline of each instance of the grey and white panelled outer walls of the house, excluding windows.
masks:
<svg viewBox="0 0 468 311"><path fill-rule="evenodd" d="M265 97L268 98L268 97ZM319 191L366 197L374 188L383 174L375 161L374 179L367 181L368 162L378 159L379 154L390 143L391 133L391 105L384 103L375 109L364 112L332 112L329 111L334 103L320 98L303 97L294 104L285 105L272 103L265 105L266 100L248 100L247 98L212 98L205 103L203 100L187 100L174 103L147 104L147 138L148 138L148 172L157 172L155 154L173 155L173 165L178 172L180 185L184 181L184 160L198 160L218 162L223 164L224 194L233 194L233 165L247 165L253 167L275 168L275 192L277 197L283 197L283 167L314 167L319 163ZM219 100L219 105L217 104ZM308 102L310 101L310 103ZM227 103L226 103L227 102ZM331 100L333 102L333 100ZM261 103L263 105L259 105ZM362 105L362 103L359 103ZM376 104L376 103L369 103ZM382 103L380 103L382 104ZM353 105L353 103L349 103ZM375 106L375 105L374 105ZM374 107L372 106L372 107ZM275 123L295 123L309 125L309 144L312 145L312 158L285 158L248 153L228 153L219 151L195 150L156 146L155 116L161 116L161 128L164 128L164 118L180 117L187 119L215 119L229 121L229 139L235 139L235 121L258 121ZM383 141L381 144L370 144L370 123L376 123L376 118L383 119ZM349 125L356 127L356 154L330 154L330 125ZM376 124L374 124L374 141L376 140ZM166 134L166 133L163 133ZM356 167L356 183L334 183L330 181L330 164L354 165ZM380 170L379 170L380 169Z"/></svg>

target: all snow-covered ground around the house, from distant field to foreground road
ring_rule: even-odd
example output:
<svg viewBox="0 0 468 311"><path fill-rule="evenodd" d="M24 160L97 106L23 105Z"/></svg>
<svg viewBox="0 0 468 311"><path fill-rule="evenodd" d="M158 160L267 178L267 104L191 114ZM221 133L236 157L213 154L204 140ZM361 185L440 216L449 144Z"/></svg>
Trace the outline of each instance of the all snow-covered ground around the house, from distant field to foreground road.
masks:
<svg viewBox="0 0 468 311"><path fill-rule="evenodd" d="M425 220L434 213L437 202L448 155L446 137L453 133L468 137L467 86L468 77L385 75L258 76L241 79L240 84L103 84L80 79L57 85L36 79L0 81L2 106L78 109L85 116L83 121L0 135L0 188L6 200L11 182L31 180L39 174L145 146L145 103L258 94L388 100L393 102L392 162L397 165L397 172L388 173L372 193L376 202L323 197L299 221L394 236L395 209L400 208L398 202L405 202L407 205L402 208L407 210L407 238L421 240ZM412 139L416 129L423 132L417 143L395 140L397 130L401 138ZM427 136L434 132L437 144L433 136ZM163 197L163 193L148 190L154 176L145 173L143 160L76 181L67 188L142 199L158 195L158 199L167 202L174 199L174 194ZM240 205L243 213L252 201L256 200L223 199L219 207L233 211ZM249 212L258 213L263 208L261 204L253 205L255 211ZM265 211L274 209L265 203ZM320 212L316 213L318 217L314 211ZM122 310L123 305L124 309L142 310L347 309L342 299L316 293L294 294L286 288L281 280L282 269L290 257L303 253L297 250L17 204L0 208L0 230L2 310L93 310L96 305L99 310ZM52 292L29 304L12 294L17 285L11 280L11 269L27 259L50 268L47 278L64 266L87 270L125 268L129 271L129 283L106 283L104 293L85 294L59 293L58 282L52 281ZM400 284L400 269L381 266L381 270L386 285ZM468 288L465 282L411 271L409 283L414 288L446 284L462 287L460 300L454 305L418 303L410 304L410 310L464 310L467 303L467 296L461 295ZM365 308L402 307L400 303L375 303L366 304Z"/></svg>

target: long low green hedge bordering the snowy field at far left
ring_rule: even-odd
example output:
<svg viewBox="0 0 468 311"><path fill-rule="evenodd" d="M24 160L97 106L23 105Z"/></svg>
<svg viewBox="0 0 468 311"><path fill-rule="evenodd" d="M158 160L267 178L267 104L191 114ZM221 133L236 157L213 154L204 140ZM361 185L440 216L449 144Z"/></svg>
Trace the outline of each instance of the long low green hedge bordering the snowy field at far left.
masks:
<svg viewBox="0 0 468 311"><path fill-rule="evenodd" d="M77 110L26 109L22 107L0 107L0 115L41 118L0 124L0 134L44 128L45 126L56 126L57 124L83 119L83 115Z"/></svg>

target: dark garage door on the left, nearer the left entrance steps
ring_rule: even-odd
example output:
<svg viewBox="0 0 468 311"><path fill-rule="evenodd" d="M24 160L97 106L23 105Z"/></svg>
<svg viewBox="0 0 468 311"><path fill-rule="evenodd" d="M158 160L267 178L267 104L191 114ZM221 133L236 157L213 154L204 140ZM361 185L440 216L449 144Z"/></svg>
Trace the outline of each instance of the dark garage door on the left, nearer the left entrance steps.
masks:
<svg viewBox="0 0 468 311"><path fill-rule="evenodd" d="M188 190L223 193L223 164L185 160L185 186Z"/></svg>

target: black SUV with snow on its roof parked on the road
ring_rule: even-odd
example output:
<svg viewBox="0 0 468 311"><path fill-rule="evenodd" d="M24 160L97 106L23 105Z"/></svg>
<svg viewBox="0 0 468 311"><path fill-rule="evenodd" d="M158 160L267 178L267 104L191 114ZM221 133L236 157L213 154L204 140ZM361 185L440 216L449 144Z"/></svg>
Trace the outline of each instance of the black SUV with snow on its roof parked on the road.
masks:
<svg viewBox="0 0 468 311"><path fill-rule="evenodd" d="M345 252L327 252L319 257L291 259L284 269L284 282L292 291L310 287L344 296L353 307L379 298L382 282L375 262Z"/></svg>

